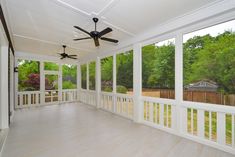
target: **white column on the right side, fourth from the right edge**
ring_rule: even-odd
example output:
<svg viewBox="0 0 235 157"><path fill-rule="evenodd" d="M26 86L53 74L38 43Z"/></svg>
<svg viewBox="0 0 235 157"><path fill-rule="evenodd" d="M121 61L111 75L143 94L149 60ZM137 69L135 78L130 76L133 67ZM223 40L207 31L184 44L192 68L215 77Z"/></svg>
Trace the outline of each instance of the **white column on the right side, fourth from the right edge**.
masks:
<svg viewBox="0 0 235 157"><path fill-rule="evenodd" d="M100 108L100 94L101 94L101 64L100 58L96 58L96 79L95 79L95 89L96 89L96 108Z"/></svg>

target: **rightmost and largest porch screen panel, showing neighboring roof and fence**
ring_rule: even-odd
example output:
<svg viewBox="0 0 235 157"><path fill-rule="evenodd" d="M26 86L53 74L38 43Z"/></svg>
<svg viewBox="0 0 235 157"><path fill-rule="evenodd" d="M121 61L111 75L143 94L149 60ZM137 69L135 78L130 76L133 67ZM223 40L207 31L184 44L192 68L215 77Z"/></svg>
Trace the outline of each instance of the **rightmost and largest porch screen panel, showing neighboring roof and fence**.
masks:
<svg viewBox="0 0 235 157"><path fill-rule="evenodd" d="M235 106L235 20L183 36L184 100Z"/></svg>

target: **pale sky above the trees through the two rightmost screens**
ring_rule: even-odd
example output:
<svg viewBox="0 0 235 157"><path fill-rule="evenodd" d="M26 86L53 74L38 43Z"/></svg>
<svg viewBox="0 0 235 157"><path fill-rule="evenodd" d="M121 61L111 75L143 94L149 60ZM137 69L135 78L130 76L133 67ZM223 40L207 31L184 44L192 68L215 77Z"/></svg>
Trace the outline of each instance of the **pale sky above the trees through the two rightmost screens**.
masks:
<svg viewBox="0 0 235 157"><path fill-rule="evenodd" d="M235 20L228 21L222 24L218 24L215 26L207 27L198 31L194 31L188 34L185 34L183 36L183 42L185 43L187 40L190 38L193 38L194 36L204 36L207 34L210 34L212 37L215 37L219 34L224 33L225 31L233 31L235 32ZM175 43L175 39L169 39L165 41L161 41L158 43L155 43L156 46L163 46L163 45L168 45L170 43Z"/></svg>

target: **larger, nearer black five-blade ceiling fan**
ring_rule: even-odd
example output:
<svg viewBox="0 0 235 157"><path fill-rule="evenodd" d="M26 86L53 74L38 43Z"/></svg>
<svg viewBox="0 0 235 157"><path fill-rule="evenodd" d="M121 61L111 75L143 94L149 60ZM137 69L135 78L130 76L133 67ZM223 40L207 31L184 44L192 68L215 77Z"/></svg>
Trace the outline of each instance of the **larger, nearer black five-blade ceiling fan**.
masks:
<svg viewBox="0 0 235 157"><path fill-rule="evenodd" d="M106 35L106 34L108 34L108 33L113 31L111 28L107 27L104 30L102 30L101 32L98 32L96 30L96 24L99 21L99 19L98 18L93 18L93 21L95 22L95 30L91 31L90 33L88 31L78 27L78 26L74 26L74 28L77 28L78 30L88 34L89 37L78 38L78 39L73 39L73 40L74 41L78 41L78 40L85 40L85 39L93 39L94 42L95 42L95 46L99 46L100 45L99 39L105 40L105 41L108 41L108 42L118 43L118 40L116 40L116 39L111 39L111 38L103 37L104 35Z"/></svg>

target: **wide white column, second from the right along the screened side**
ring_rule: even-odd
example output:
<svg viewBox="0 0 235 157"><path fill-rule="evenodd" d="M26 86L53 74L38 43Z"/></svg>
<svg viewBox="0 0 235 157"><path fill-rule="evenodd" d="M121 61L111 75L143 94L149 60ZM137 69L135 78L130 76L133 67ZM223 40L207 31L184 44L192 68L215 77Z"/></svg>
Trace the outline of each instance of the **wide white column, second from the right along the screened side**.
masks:
<svg viewBox="0 0 235 157"><path fill-rule="evenodd" d="M141 44L137 43L133 48L133 91L134 91L134 122L140 123L142 120L141 101L142 92L142 49Z"/></svg>

